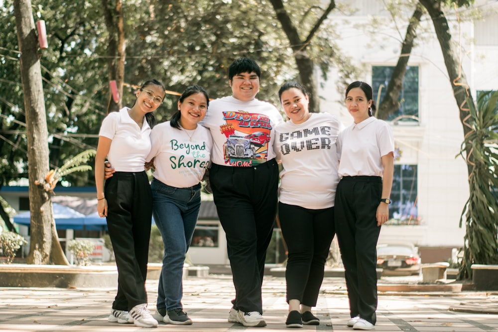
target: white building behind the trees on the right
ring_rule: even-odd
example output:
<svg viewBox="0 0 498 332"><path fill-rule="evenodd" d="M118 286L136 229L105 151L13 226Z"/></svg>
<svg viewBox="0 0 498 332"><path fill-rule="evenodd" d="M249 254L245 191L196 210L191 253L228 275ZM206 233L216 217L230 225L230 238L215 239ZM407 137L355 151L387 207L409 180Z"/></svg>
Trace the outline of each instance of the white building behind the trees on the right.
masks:
<svg viewBox="0 0 498 332"><path fill-rule="evenodd" d="M392 16L384 9L386 1L344 2L358 11L351 16L344 16L339 11L331 13L331 24L340 31L340 39L335 42L361 68L361 76L352 81L371 84L376 99L379 83L385 81L387 85L388 67L396 65L400 41L412 12L396 15L395 25ZM475 9L486 15L485 19L466 18ZM498 2L490 0L477 0L471 8L461 8L458 13L445 11L453 40L461 43L462 68L474 99L481 91L498 89L497 12ZM368 33L373 30L373 18L379 17L382 25L375 28L375 34ZM459 228L459 221L469 197L469 185L465 161L462 157L455 157L464 139L459 109L428 14L422 16L408 66L411 81L403 85L405 103L401 112L394 116L411 114L418 120L405 116L389 121L395 147L401 151L395 161L395 183L391 195L394 202L390 210L393 217L403 220L404 225L383 226L379 242L411 241L420 247L422 259L432 254L436 257L430 260L437 261L448 258L452 247L463 246L465 224ZM385 75L386 71L388 75ZM337 92L338 81L334 79L337 71L328 77L328 81L319 82L321 111L336 114L345 125L349 125L352 117L344 106L344 95ZM383 89L385 91L385 87Z"/></svg>

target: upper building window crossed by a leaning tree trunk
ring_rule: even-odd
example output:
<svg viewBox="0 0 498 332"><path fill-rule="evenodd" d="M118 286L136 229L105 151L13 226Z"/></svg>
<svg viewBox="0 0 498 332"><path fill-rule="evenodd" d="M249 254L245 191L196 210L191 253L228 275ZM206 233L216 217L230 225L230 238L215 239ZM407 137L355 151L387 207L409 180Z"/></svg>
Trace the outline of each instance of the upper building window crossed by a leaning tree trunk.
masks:
<svg viewBox="0 0 498 332"><path fill-rule="evenodd" d="M385 96L387 85L394 71L393 66L372 67L373 100L382 101ZM380 89L379 89L380 87ZM377 98L380 90L380 98ZM387 121L418 122L418 67L409 66L403 78L403 87L399 94L399 110L389 114ZM378 104L377 104L378 106Z"/></svg>

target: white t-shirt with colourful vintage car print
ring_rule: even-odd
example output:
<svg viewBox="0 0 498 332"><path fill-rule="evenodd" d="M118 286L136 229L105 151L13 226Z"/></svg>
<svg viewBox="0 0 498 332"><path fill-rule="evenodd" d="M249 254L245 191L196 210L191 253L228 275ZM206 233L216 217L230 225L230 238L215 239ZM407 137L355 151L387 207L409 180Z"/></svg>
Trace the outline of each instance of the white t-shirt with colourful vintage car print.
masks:
<svg viewBox="0 0 498 332"><path fill-rule="evenodd" d="M257 99L243 102L230 96L210 102L201 124L213 137L211 161L249 167L275 158L274 127L281 122L273 105Z"/></svg>

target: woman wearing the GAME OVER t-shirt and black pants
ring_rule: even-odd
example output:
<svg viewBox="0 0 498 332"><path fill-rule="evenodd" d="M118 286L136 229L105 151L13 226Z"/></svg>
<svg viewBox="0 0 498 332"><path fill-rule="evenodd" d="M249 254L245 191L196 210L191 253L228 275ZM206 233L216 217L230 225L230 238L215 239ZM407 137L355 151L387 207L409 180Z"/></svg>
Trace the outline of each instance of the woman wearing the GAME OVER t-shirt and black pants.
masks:
<svg viewBox="0 0 498 332"><path fill-rule="evenodd" d="M285 271L288 328L319 325L311 313L335 234L334 197L339 176L336 139L343 124L329 113L310 113L297 82L278 92L288 121L275 128L274 149L282 163L278 217L287 244Z"/></svg>

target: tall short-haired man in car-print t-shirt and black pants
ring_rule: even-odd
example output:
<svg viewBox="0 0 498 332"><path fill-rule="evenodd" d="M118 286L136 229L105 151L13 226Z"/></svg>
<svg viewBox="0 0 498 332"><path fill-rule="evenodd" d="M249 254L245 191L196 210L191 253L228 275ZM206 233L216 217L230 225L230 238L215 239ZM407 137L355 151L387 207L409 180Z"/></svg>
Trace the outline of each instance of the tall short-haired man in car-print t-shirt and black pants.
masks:
<svg viewBox="0 0 498 332"><path fill-rule="evenodd" d="M235 285L228 321L246 327L266 326L261 283L277 208L274 127L283 122L273 105L255 99L260 75L255 61L235 60L232 96L212 101L202 121L213 136L209 180Z"/></svg>

